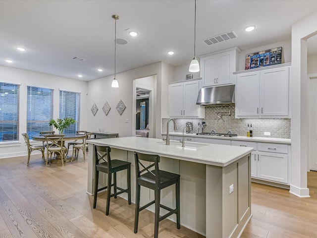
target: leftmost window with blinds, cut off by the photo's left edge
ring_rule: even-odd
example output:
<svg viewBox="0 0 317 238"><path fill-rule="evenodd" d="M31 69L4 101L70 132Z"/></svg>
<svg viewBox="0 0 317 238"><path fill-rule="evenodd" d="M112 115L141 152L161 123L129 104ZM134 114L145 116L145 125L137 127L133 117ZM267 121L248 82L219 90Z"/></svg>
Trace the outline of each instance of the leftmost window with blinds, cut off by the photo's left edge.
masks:
<svg viewBox="0 0 317 238"><path fill-rule="evenodd" d="M0 141L19 138L19 91L17 84L0 82Z"/></svg>

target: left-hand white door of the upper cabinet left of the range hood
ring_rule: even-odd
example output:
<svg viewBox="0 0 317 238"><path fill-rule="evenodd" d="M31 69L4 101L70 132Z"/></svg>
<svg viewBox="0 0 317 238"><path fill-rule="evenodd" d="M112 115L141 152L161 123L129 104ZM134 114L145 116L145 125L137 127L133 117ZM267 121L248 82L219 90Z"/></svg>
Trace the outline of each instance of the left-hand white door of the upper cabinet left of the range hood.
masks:
<svg viewBox="0 0 317 238"><path fill-rule="evenodd" d="M175 83L169 85L169 116L183 116L183 83Z"/></svg>

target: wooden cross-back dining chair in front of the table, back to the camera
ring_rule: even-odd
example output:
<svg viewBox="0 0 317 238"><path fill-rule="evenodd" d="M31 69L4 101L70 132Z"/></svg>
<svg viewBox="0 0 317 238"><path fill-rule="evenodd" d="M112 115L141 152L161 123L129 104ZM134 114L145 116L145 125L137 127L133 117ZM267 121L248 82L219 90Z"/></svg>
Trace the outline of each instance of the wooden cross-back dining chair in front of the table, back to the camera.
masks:
<svg viewBox="0 0 317 238"><path fill-rule="evenodd" d="M61 159L61 165L64 166L65 154L67 148L63 146L64 144L64 135L63 134L52 134L52 135L44 135L46 138L46 164L48 165L48 161L50 158L50 163L52 163L52 155L59 155Z"/></svg>

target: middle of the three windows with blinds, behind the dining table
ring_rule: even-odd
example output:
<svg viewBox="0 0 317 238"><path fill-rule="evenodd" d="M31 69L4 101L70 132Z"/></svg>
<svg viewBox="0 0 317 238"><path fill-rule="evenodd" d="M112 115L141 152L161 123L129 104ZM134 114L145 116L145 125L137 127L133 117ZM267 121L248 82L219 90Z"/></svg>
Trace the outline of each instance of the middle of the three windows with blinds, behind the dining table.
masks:
<svg viewBox="0 0 317 238"><path fill-rule="evenodd" d="M28 86L27 133L31 138L40 131L52 130L53 89Z"/></svg>

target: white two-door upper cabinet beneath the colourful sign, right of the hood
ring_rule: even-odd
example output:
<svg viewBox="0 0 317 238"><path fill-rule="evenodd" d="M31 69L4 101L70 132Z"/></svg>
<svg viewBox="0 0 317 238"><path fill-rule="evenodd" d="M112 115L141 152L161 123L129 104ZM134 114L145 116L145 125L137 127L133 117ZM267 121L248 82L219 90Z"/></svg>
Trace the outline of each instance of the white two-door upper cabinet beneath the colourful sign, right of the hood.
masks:
<svg viewBox="0 0 317 238"><path fill-rule="evenodd" d="M236 75L236 118L289 118L289 67Z"/></svg>

